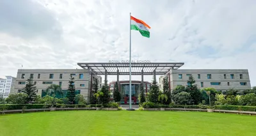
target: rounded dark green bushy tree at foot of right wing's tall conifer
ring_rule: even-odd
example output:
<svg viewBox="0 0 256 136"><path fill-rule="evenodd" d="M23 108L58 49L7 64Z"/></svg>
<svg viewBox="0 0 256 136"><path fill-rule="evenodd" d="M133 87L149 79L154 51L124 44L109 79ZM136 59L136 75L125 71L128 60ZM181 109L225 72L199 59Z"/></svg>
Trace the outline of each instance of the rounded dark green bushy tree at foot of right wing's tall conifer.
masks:
<svg viewBox="0 0 256 136"><path fill-rule="evenodd" d="M191 96L188 92L180 92L173 96L175 104L191 104Z"/></svg>

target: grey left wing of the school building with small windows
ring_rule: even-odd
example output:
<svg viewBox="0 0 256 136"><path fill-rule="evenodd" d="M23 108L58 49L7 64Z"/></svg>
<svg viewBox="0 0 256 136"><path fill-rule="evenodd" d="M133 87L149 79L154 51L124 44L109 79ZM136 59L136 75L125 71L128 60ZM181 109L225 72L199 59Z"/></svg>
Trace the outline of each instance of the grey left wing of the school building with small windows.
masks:
<svg viewBox="0 0 256 136"><path fill-rule="evenodd" d="M15 89L11 93L20 93L29 77L33 78L37 95L44 97L45 90L51 84L60 85L63 92L67 93L70 75L74 78L76 93L83 95L86 100L90 97L93 79L99 80L101 88L102 78L88 69L19 69Z"/></svg>

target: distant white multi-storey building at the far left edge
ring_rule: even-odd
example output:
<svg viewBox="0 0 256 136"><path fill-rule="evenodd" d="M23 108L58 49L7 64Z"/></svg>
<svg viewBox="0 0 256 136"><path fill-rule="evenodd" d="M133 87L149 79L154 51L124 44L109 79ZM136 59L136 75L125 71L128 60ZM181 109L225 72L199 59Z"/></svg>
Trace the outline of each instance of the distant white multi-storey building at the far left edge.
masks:
<svg viewBox="0 0 256 136"><path fill-rule="evenodd" d="M0 78L0 98L7 98L14 90L16 78L6 76L6 79Z"/></svg>

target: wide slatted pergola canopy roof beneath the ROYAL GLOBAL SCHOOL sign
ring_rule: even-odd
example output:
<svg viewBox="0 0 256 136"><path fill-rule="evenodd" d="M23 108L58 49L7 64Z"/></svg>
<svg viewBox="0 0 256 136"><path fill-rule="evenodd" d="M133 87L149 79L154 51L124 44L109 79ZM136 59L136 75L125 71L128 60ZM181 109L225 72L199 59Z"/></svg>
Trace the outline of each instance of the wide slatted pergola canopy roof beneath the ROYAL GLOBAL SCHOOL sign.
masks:
<svg viewBox="0 0 256 136"><path fill-rule="evenodd" d="M83 69L90 69L97 75L129 75L129 62L125 63L77 63ZM170 69L179 69L182 62L131 63L132 75L164 75ZM107 72L107 73L106 73ZM154 73L155 72L155 73Z"/></svg>

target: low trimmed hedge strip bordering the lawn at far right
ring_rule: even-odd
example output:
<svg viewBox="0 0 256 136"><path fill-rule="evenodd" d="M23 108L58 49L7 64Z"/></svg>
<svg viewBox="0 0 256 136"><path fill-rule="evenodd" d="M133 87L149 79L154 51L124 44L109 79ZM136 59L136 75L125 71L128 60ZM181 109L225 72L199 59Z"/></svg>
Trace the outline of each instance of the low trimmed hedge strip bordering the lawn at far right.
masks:
<svg viewBox="0 0 256 136"><path fill-rule="evenodd" d="M233 110L233 111L256 111L256 106L214 105L214 109Z"/></svg>

